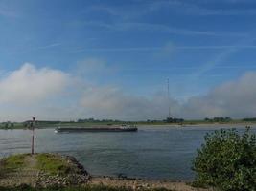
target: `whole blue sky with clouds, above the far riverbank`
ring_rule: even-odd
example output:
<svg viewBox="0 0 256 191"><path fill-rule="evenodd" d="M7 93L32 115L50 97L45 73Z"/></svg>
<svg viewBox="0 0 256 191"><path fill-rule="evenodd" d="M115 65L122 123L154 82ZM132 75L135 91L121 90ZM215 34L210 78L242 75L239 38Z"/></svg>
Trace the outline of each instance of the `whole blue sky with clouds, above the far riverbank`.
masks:
<svg viewBox="0 0 256 191"><path fill-rule="evenodd" d="M0 0L0 121L256 117L255 23L254 0Z"/></svg>

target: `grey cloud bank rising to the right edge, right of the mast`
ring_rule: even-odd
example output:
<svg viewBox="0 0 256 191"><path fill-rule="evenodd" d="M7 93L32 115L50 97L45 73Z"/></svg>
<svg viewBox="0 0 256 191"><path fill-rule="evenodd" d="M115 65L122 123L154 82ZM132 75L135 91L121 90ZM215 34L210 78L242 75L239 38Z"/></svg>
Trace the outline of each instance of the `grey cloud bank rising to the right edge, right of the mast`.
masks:
<svg viewBox="0 0 256 191"><path fill-rule="evenodd" d="M182 107L186 117L255 117L256 72L222 84L206 96L190 98Z"/></svg>

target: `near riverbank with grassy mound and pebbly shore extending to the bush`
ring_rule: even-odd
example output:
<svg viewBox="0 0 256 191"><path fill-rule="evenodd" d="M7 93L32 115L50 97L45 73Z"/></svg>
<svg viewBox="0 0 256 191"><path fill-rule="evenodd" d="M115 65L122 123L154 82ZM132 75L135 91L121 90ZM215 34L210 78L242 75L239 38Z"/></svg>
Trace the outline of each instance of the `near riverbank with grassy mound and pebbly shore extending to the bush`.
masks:
<svg viewBox="0 0 256 191"><path fill-rule="evenodd" d="M80 186L81 190L90 190L90 187L93 190L104 186L104 190L122 188L124 190L205 191L205 189L190 186L189 182L132 179L124 176L94 177L86 172L77 159L57 154L14 155L1 159L0 164L2 189L26 185L32 188L54 186L63 189Z"/></svg>

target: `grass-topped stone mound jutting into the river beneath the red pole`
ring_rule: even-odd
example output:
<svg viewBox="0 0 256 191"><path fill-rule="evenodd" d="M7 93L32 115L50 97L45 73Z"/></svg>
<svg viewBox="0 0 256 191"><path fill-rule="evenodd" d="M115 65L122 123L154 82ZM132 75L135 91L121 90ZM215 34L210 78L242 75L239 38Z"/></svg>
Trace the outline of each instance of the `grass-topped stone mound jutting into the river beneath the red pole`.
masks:
<svg viewBox="0 0 256 191"><path fill-rule="evenodd" d="M13 157L11 159L1 159L0 186L18 186L21 184L34 187L67 186L85 184L89 180L89 174L77 159L70 156L47 154L47 157L56 160L54 164L58 160L61 164L58 166L59 169L55 169L56 173L53 173L48 168L43 169L44 166L38 165L37 158L39 155L46 154L24 154L17 159ZM49 166L51 167L51 164ZM64 173L63 168L66 170Z"/></svg>

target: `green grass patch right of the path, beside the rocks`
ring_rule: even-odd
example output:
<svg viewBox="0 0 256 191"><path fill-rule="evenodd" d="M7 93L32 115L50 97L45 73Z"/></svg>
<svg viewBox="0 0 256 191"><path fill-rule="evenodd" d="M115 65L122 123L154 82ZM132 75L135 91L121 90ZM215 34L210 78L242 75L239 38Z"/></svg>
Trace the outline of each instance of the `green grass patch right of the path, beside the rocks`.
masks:
<svg viewBox="0 0 256 191"><path fill-rule="evenodd" d="M53 175L66 175L72 170L71 164L53 154L37 154L37 168Z"/></svg>

